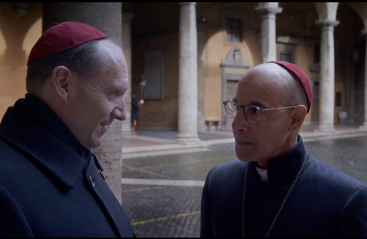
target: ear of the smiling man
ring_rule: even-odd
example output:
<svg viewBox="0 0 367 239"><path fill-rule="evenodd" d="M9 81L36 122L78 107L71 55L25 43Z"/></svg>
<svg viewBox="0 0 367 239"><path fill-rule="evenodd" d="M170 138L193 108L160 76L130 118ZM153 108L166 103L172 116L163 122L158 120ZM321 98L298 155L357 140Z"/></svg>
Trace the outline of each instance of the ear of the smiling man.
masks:
<svg viewBox="0 0 367 239"><path fill-rule="evenodd" d="M51 81L56 95L66 101L70 92L72 73L65 66L57 66L52 70Z"/></svg>

